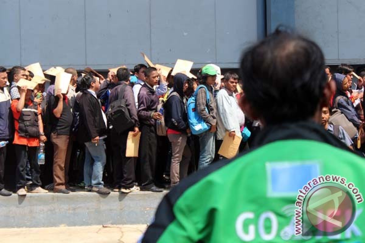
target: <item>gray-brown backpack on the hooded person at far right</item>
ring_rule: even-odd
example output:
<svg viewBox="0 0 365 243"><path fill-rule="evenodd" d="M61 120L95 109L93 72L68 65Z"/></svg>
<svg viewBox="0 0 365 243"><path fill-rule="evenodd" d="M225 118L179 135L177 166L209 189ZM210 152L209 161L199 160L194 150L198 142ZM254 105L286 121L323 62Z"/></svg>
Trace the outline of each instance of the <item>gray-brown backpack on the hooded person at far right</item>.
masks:
<svg viewBox="0 0 365 243"><path fill-rule="evenodd" d="M350 138L353 139L356 136L358 131L357 131L356 127L354 126L354 124L352 124L352 122L350 122L349 119L347 119L347 117L342 113L342 111L340 109L338 109L338 101L341 98L346 99L346 97L344 97L344 96L338 96L335 99L334 108L332 110L332 115L328 122L333 125L342 126L342 128L345 129L347 134L349 134Z"/></svg>

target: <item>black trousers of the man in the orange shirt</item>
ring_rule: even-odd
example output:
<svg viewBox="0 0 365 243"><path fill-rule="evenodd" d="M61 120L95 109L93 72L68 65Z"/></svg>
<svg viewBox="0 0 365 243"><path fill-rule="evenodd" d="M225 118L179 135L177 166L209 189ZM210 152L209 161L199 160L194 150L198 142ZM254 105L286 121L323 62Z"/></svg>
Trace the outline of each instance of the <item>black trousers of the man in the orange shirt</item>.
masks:
<svg viewBox="0 0 365 243"><path fill-rule="evenodd" d="M26 145L14 145L15 148L15 156L16 156L16 189L24 188L26 186L26 175L25 168L27 165L27 159L30 164L30 172L32 174L32 184L30 188L40 187L42 185L41 179L39 176L41 175L41 170L39 169L38 164L38 147L28 147Z"/></svg>

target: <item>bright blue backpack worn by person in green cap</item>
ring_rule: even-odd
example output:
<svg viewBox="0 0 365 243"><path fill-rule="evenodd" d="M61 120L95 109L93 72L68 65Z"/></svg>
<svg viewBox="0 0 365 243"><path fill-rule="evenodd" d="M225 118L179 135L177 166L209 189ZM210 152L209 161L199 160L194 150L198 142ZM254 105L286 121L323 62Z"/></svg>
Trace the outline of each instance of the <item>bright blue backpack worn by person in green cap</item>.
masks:
<svg viewBox="0 0 365 243"><path fill-rule="evenodd" d="M210 129L210 125L205 123L205 121L199 115L198 111L195 108L195 103L196 103L195 99L196 99L196 95L198 93L198 90L200 88L205 89L205 92L207 94L207 104L210 101L209 91L208 91L207 87L205 87L204 85L199 85L196 88L196 90L195 90L194 94L192 95L192 97L190 97L188 99L188 105L187 105L188 121L189 121L190 130L191 130L192 134L194 134L194 135L204 133L204 132L206 132ZM205 107L205 110L209 113L209 110L208 110L207 107Z"/></svg>

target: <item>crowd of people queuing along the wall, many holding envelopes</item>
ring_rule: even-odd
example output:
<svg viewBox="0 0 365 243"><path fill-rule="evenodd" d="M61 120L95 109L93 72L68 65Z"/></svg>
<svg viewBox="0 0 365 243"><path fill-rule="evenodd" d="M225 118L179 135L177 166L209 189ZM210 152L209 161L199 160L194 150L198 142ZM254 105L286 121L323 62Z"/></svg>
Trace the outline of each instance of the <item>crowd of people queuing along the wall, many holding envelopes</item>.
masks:
<svg viewBox="0 0 365 243"><path fill-rule="evenodd" d="M330 107L322 110L322 125L362 154L365 71L356 75L347 64L339 65L334 74L330 67L323 68L337 90ZM46 74L50 82L37 82L35 87L24 82L19 86L20 80L34 81L34 73L20 66L0 67L2 196L12 194L4 188L4 173L9 173L5 163L12 158L19 196L49 190L70 193L75 186L100 194L162 192L222 159L218 150L226 133L243 137L250 130L250 139L242 139L239 146L242 152L249 150L261 127L238 105L243 95L238 74L221 75L215 64L202 67L196 77L186 72L172 75L172 70L165 76L145 64L109 71L105 79L95 71L80 76L72 67L61 71L71 77L66 93L55 89L52 75ZM192 101L192 112L202 119L194 127L188 110ZM124 114L125 122L113 124L117 113ZM333 119L331 114L336 114ZM129 134L141 136L138 157L126 157ZM38 161L40 147L45 151L44 165Z"/></svg>

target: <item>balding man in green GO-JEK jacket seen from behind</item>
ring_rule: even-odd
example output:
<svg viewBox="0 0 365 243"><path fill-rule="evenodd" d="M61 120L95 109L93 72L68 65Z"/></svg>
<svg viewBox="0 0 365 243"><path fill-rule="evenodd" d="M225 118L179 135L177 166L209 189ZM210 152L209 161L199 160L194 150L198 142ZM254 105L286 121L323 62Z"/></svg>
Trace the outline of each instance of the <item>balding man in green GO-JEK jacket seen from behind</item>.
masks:
<svg viewBox="0 0 365 243"><path fill-rule="evenodd" d="M314 42L277 30L241 61L254 149L180 182L141 242L364 242L365 160L321 124L334 93Z"/></svg>

